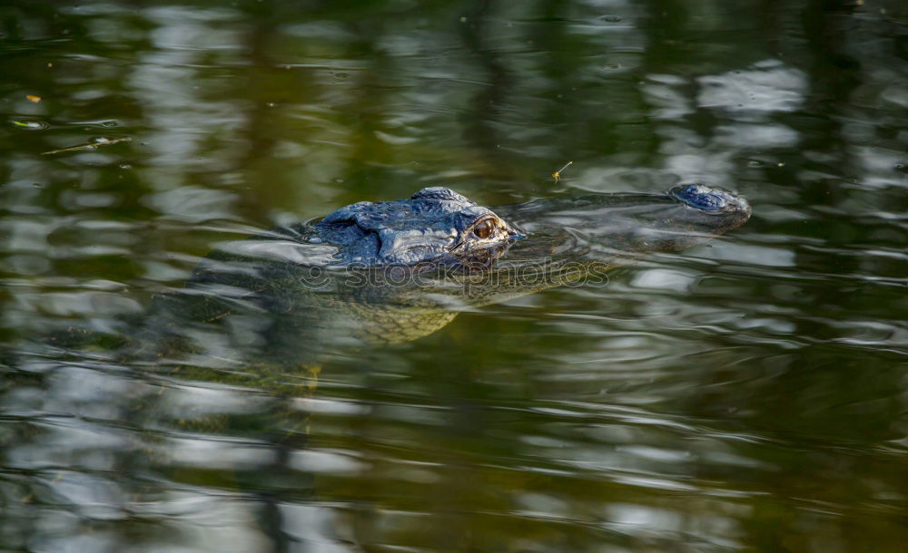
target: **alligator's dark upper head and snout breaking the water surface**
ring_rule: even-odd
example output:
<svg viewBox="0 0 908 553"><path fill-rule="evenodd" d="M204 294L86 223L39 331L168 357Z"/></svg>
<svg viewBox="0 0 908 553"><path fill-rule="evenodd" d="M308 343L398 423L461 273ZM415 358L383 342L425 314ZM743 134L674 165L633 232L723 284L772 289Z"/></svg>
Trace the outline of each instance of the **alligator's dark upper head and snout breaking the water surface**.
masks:
<svg viewBox="0 0 908 553"><path fill-rule="evenodd" d="M530 239L507 258L514 263L551 259L562 250L575 260L578 242L634 251L679 250L743 224L745 199L702 184L679 185L667 194L597 194L540 199L495 211L443 187L421 189L410 199L361 201L312 225L310 244L337 247L333 266L466 267L491 269L508 248ZM561 236L571 242L553 244ZM548 248L548 251L547 251Z"/></svg>

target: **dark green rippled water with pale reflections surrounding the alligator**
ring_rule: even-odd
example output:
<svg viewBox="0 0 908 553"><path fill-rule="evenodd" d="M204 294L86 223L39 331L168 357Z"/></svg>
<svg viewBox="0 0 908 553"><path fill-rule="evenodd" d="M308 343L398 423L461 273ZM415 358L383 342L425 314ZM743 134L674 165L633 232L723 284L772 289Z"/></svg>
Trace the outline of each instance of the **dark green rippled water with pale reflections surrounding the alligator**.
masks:
<svg viewBox="0 0 908 553"><path fill-rule="evenodd" d="M905 550L901 2L6 0L0 111L0 550ZM45 339L353 201L678 180L753 218L314 391Z"/></svg>

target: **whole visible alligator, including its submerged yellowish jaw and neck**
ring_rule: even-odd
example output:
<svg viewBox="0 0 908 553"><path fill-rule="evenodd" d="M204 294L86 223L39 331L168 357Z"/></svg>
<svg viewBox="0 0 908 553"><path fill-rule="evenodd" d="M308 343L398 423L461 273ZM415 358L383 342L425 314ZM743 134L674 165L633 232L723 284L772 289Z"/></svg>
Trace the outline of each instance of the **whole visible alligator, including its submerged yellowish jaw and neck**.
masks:
<svg viewBox="0 0 908 553"><path fill-rule="evenodd" d="M745 199L696 184L491 209L422 189L223 244L185 288L157 298L146 328L196 360L314 363L339 346L427 335L467 307L602 282L613 267L749 217Z"/></svg>

